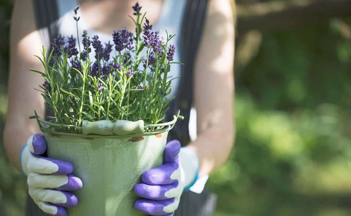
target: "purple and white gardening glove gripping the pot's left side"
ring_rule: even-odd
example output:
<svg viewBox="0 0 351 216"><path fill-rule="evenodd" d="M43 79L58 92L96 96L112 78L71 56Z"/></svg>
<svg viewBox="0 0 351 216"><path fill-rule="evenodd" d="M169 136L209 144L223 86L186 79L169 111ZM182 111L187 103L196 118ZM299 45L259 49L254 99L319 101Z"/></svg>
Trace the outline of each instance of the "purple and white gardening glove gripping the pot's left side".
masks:
<svg viewBox="0 0 351 216"><path fill-rule="evenodd" d="M29 137L23 147L21 169L28 176L29 195L45 213L66 216L65 208L78 204L78 198L66 191L81 189L82 181L73 175L71 163L40 156L46 151L44 134Z"/></svg>

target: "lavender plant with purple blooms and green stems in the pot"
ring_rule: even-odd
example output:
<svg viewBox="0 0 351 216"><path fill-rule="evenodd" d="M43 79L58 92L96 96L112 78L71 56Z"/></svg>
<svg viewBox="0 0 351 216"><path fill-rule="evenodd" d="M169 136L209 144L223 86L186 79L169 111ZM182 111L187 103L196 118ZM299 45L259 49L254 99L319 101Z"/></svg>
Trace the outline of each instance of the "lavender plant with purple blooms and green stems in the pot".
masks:
<svg viewBox="0 0 351 216"><path fill-rule="evenodd" d="M113 44L102 44L98 35L89 36L86 30L79 44L78 6L73 17L77 40L73 35L67 40L59 35L50 44L48 57L46 47L42 47L42 57L36 57L45 72L29 70L45 78L45 83L36 90L44 97L46 107L53 111L47 118L57 125L47 130L81 133L75 127L63 125L81 126L83 120L142 119L145 124L157 124L164 119L168 103L173 99L167 97L174 79L168 77L168 72L171 64L178 63L172 62L176 48L170 40L174 35L167 33L166 39L160 39L159 31L153 31L146 13L140 13L138 2L132 8L134 17L129 17L134 21L135 34L124 27L113 31ZM141 56L144 49L145 57ZM95 61L89 57L92 50Z"/></svg>

